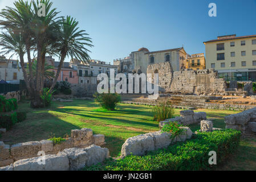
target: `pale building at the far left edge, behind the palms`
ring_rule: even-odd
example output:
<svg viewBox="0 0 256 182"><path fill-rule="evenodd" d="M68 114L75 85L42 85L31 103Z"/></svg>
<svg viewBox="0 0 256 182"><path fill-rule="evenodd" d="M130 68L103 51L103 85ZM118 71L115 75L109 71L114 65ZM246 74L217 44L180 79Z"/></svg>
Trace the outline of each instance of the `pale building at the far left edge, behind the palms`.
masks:
<svg viewBox="0 0 256 182"><path fill-rule="evenodd" d="M5 56L0 56L0 80L7 82L19 82L23 80L23 72L18 60L8 60Z"/></svg>

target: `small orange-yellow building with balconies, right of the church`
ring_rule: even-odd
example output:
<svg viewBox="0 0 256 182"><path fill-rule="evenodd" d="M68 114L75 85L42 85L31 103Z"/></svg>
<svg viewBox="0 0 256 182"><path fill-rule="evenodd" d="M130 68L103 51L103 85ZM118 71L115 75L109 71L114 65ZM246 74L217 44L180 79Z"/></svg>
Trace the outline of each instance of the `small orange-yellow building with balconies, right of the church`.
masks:
<svg viewBox="0 0 256 182"><path fill-rule="evenodd" d="M193 70L205 69L204 53L195 53L188 56L188 59L186 60L186 68L192 68Z"/></svg>

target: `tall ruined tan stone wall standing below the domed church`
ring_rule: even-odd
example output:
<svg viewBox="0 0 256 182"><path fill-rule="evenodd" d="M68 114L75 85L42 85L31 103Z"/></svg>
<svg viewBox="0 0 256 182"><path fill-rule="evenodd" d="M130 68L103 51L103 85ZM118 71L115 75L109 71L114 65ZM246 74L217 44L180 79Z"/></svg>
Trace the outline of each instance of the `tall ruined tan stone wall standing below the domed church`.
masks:
<svg viewBox="0 0 256 182"><path fill-rule="evenodd" d="M172 71L172 65L165 62L149 65L147 73L159 73L159 86L165 92L218 95L224 94L227 89L225 80L218 78L214 69Z"/></svg>

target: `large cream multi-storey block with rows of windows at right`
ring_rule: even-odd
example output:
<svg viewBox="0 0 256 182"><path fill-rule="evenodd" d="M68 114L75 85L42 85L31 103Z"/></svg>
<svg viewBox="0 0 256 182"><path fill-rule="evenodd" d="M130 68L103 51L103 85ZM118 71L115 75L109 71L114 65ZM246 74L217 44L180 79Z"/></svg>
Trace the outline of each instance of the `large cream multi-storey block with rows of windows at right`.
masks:
<svg viewBox="0 0 256 182"><path fill-rule="evenodd" d="M256 35L218 36L204 44L206 69L216 69L225 80L256 81Z"/></svg>

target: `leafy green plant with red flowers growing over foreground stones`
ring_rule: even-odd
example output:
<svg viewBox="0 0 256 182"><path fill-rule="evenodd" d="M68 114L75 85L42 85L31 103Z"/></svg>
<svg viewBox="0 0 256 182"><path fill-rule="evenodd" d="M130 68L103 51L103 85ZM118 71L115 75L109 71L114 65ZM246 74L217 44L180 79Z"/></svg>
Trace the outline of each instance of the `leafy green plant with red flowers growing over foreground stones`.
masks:
<svg viewBox="0 0 256 182"><path fill-rule="evenodd" d="M182 128L182 125L178 124L178 122L170 122L162 127L161 133L169 133L170 138L174 139L178 135L184 133L184 129Z"/></svg>

